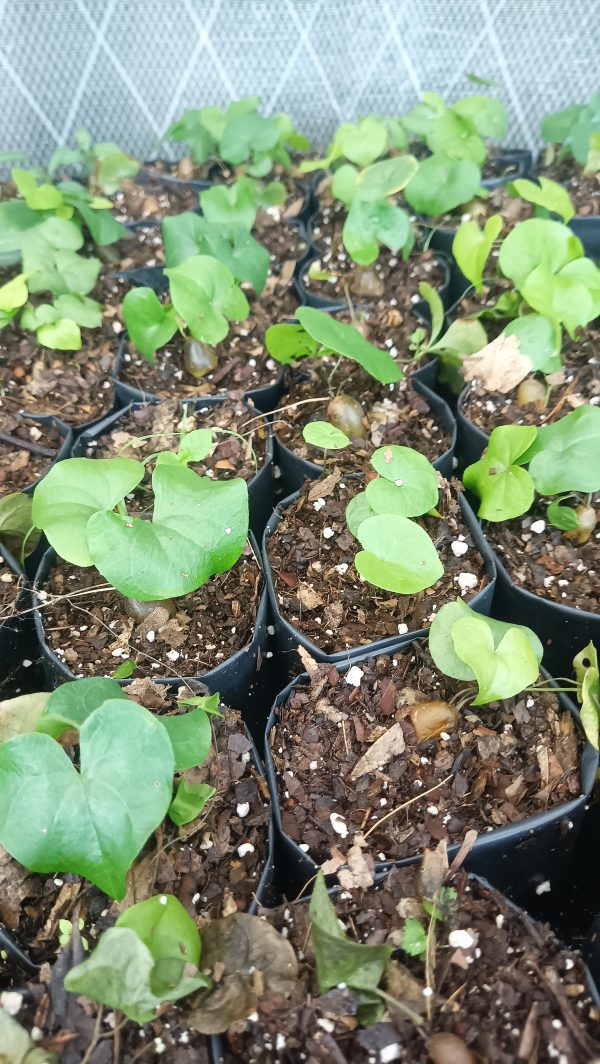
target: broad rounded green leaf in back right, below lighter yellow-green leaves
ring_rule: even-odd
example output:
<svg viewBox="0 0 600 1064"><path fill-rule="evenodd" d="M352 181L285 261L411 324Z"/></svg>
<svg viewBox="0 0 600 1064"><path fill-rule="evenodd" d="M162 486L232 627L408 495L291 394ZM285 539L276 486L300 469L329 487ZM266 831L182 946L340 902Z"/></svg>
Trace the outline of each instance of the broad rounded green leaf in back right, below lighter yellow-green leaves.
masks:
<svg viewBox="0 0 600 1064"><path fill-rule="evenodd" d="M480 185L481 170L471 160L434 154L419 164L404 196L415 211L437 217L468 203Z"/></svg>

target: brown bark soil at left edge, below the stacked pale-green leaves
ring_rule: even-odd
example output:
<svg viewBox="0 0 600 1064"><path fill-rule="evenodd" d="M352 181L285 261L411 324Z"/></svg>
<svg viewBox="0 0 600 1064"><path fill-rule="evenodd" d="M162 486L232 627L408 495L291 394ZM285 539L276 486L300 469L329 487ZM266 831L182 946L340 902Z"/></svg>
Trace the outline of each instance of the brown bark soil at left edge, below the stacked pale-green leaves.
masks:
<svg viewBox="0 0 600 1064"><path fill-rule="evenodd" d="M113 405L114 342L81 331L81 351L37 347L32 333L7 326L0 335L0 410L55 414L83 425Z"/></svg>

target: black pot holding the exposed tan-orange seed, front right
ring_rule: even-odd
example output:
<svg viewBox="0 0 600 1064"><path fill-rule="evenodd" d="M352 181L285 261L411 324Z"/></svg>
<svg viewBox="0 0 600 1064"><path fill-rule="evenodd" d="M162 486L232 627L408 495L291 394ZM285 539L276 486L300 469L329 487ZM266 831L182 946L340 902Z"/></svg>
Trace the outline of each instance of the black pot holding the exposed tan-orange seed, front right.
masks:
<svg viewBox="0 0 600 1064"><path fill-rule="evenodd" d="M521 622L520 618L519 622ZM374 656L384 654L391 658L395 653L403 653L414 642L414 638L409 641L399 639L394 647L369 650L355 655L351 661L346 663L338 662L334 667L341 676L350 667L360 665L369 659L372 660ZM574 717L581 734L580 717L574 704L564 693L559 691L557 684L546 670L543 670L543 676L551 686L556 687L556 697L562 710ZM287 866L289 883L286 896L288 898L296 897L306 887L319 870L319 865L312 859L307 847L301 848L283 831L277 771L270 749L269 735L273 726L278 722L280 706L288 700L296 687L306 686L309 683L310 677L307 672L303 672L278 695L265 732L264 763L271 792L276 837L279 835L285 842L285 846L290 854ZM569 864L595 784L598 764L598 751L589 743L585 742L580 758L581 795L562 804L547 809L544 812L526 817L520 821L505 827L494 828L479 835L465 861L466 869L488 879L497 890L506 894L517 904L524 905L527 909L541 914L546 902L552 901L550 898L546 899L545 895L549 895L552 891L555 891L568 875ZM460 845L460 843L456 843L449 846L448 853L450 861L457 853ZM377 862L376 870L383 872L394 867L414 864L420 858L421 854L417 851L413 855L399 861ZM330 878L329 882L332 881L333 878Z"/></svg>

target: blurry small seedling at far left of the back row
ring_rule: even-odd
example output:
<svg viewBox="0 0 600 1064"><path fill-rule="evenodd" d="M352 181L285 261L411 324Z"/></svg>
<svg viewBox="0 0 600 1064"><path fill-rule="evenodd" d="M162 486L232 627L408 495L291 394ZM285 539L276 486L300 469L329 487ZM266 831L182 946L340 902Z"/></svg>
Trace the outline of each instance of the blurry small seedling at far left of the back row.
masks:
<svg viewBox="0 0 600 1064"><path fill-rule="evenodd" d="M87 181L89 190L113 196L124 178L134 178L139 163L127 155L116 144L94 144L87 130L74 135L77 148L56 148L48 163L48 173L53 177L63 169L74 169Z"/></svg>

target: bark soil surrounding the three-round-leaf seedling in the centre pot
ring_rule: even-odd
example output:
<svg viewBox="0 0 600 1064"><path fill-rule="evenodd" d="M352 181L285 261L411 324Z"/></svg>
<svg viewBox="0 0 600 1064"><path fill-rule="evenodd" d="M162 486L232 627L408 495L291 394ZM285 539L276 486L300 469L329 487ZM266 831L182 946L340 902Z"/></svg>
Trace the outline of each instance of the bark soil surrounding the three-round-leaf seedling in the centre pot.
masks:
<svg viewBox="0 0 600 1064"><path fill-rule="evenodd" d="M427 628L445 602L459 595L468 601L481 591L488 578L462 517L460 491L439 481L441 518L426 516L418 523L432 536L445 573L417 595L380 591L354 568L360 545L348 531L346 508L364 484L341 480L339 469L306 482L267 544L285 619L326 653L334 653Z"/></svg>

